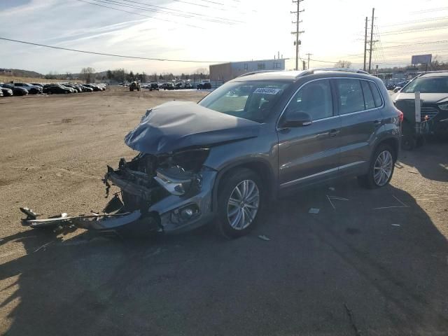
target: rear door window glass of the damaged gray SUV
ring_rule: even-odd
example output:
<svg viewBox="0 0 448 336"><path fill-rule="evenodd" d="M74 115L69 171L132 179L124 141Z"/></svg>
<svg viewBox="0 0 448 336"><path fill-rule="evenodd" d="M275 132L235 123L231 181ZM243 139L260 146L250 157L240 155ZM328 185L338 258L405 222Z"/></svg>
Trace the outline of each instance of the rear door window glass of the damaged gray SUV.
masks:
<svg viewBox="0 0 448 336"><path fill-rule="evenodd" d="M364 96L360 80L340 78L336 80L339 92L339 114L364 110Z"/></svg>

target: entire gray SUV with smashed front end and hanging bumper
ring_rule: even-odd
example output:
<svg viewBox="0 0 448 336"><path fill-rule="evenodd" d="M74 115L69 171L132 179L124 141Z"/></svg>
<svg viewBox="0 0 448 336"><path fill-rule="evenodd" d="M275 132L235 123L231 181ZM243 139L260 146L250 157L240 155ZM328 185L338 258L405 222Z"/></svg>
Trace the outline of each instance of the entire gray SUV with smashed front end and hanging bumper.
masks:
<svg viewBox="0 0 448 336"><path fill-rule="evenodd" d="M363 71L247 73L198 104L148 110L125 137L139 155L108 167L104 179L120 197L93 221L72 223L183 232L214 222L238 237L290 190L342 176L386 186L401 120L381 80Z"/></svg>

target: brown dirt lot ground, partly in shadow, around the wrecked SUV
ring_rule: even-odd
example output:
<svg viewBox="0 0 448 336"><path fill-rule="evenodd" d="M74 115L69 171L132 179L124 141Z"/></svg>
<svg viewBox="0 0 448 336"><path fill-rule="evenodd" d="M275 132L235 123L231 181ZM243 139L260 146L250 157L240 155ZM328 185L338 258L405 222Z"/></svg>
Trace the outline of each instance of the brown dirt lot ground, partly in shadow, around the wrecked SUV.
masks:
<svg viewBox="0 0 448 336"><path fill-rule="evenodd" d="M24 205L101 210L106 165L132 158L123 137L144 111L203 95L0 99L2 335L448 335L448 144L402 152L381 190L353 179L279 200L234 241L20 226Z"/></svg>

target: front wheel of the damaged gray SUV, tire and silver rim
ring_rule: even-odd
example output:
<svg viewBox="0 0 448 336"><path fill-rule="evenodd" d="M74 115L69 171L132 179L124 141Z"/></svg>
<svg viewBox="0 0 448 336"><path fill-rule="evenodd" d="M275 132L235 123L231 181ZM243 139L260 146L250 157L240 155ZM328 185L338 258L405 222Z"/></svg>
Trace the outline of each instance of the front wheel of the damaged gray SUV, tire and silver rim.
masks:
<svg viewBox="0 0 448 336"><path fill-rule="evenodd" d="M235 204L231 204L231 198ZM241 208L239 202L245 204L244 207ZM257 224L264 207L265 189L258 174L246 168L231 171L218 189L218 232L228 239L246 235Z"/></svg>

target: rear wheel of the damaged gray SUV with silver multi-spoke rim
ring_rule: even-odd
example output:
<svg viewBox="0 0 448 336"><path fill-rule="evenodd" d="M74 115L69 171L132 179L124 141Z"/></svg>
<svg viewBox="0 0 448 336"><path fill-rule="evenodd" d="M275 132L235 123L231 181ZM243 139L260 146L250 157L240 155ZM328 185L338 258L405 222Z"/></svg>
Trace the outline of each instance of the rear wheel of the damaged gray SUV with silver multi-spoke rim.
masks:
<svg viewBox="0 0 448 336"><path fill-rule="evenodd" d="M380 144L372 155L367 174L358 176L360 186L367 189L376 189L387 186L393 176L395 157L395 151L393 151L391 146L388 144ZM384 161L384 165L381 165L381 161ZM381 169L381 167L384 168Z"/></svg>

